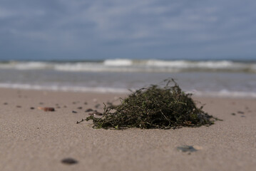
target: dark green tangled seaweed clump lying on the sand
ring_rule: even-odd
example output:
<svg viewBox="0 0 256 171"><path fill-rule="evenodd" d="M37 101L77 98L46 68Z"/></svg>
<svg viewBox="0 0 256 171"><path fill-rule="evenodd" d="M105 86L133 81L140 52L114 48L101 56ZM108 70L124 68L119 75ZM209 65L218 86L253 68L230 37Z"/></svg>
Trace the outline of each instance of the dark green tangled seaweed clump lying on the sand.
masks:
<svg viewBox="0 0 256 171"><path fill-rule="evenodd" d="M190 93L185 93L175 81L165 80L165 86L141 88L121 99L120 105L104 107L103 116L91 115L93 128L158 128L199 127L212 125L214 118L197 108ZM170 86L173 83L174 86Z"/></svg>

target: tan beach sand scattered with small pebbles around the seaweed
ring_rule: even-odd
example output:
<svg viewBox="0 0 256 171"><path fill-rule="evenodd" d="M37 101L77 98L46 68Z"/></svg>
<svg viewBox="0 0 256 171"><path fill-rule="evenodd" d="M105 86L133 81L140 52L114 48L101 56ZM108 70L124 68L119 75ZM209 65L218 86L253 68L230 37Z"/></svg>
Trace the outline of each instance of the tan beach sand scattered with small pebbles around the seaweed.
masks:
<svg viewBox="0 0 256 171"><path fill-rule="evenodd" d="M205 104L206 112L223 120L210 127L96 130L91 122L76 122L88 116L86 109L99 103L102 111L102 103L126 95L8 88L0 88L0 95L1 171L256 168L256 99L193 97ZM182 145L198 151L180 152L177 147ZM62 163L67 157L78 162Z"/></svg>

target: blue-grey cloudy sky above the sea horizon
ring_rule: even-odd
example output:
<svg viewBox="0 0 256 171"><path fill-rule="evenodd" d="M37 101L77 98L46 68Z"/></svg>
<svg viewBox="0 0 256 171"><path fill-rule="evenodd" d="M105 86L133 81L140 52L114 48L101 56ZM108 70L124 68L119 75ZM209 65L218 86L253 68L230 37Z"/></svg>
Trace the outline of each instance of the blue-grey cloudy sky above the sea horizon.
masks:
<svg viewBox="0 0 256 171"><path fill-rule="evenodd" d="M256 60L255 9L255 0L0 0L0 60Z"/></svg>

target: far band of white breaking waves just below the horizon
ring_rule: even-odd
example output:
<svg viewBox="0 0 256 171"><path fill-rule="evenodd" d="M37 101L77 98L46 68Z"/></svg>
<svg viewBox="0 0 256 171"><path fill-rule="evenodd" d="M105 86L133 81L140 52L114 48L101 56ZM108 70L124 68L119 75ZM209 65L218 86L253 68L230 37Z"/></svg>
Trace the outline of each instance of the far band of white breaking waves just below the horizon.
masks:
<svg viewBox="0 0 256 171"><path fill-rule="evenodd" d="M0 68L16 70L52 69L56 71L76 72L148 72L177 73L190 71L225 71L256 73L256 63L235 61L163 61L108 59L101 62L44 62L44 61L9 61L0 63Z"/></svg>

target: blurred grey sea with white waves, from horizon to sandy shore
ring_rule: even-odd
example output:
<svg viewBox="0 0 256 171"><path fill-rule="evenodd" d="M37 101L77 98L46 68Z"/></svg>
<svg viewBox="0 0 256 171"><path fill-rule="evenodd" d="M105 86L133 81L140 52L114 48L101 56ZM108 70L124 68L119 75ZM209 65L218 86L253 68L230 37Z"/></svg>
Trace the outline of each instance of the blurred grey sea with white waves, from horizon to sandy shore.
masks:
<svg viewBox="0 0 256 171"><path fill-rule="evenodd" d="M194 95L256 98L256 61L0 61L0 88L129 93L172 78Z"/></svg>

